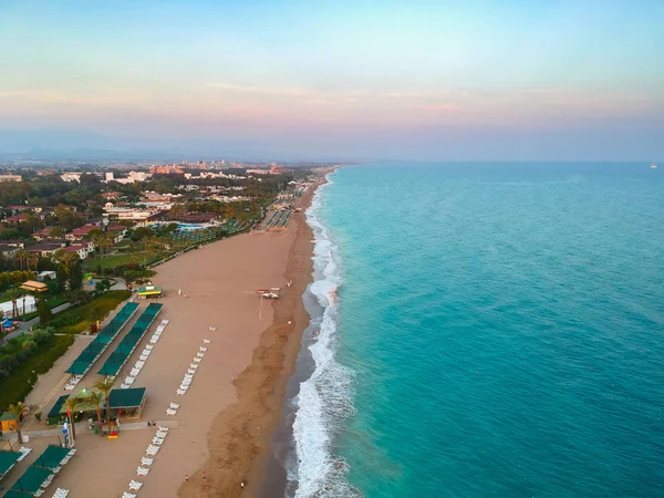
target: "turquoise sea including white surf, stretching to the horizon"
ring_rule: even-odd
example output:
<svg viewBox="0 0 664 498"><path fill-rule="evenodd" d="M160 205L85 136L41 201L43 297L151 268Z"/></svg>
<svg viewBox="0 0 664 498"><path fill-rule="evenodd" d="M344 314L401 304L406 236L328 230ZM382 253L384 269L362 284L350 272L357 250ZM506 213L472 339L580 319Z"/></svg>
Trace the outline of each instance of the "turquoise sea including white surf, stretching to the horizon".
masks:
<svg viewBox="0 0 664 498"><path fill-rule="evenodd" d="M284 496L664 497L664 168L328 179Z"/></svg>

